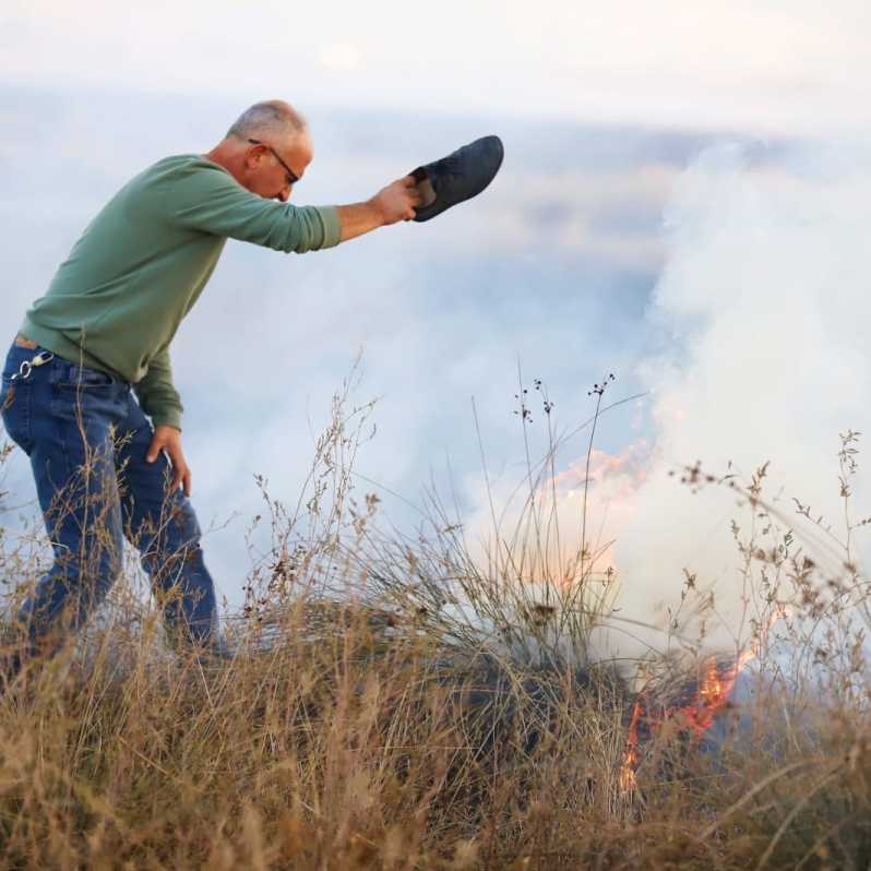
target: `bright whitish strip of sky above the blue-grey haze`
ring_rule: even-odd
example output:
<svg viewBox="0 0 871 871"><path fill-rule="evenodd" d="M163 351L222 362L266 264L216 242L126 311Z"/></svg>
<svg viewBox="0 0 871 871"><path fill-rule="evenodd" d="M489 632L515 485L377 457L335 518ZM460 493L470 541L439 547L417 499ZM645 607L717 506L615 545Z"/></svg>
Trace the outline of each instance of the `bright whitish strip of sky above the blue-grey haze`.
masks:
<svg viewBox="0 0 871 871"><path fill-rule="evenodd" d="M819 132L869 119L864 0L12 0L0 72L212 96Z"/></svg>

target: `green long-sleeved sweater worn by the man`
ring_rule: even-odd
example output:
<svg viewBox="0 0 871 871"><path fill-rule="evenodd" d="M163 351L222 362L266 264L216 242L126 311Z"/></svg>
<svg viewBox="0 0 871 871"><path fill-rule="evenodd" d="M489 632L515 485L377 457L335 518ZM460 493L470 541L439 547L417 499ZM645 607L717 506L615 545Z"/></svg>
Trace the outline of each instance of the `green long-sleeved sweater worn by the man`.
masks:
<svg viewBox="0 0 871 871"><path fill-rule="evenodd" d="M60 357L133 383L155 426L180 429L169 344L227 238L302 253L338 244L339 235L333 206L264 200L205 157L165 157L91 222L21 332Z"/></svg>

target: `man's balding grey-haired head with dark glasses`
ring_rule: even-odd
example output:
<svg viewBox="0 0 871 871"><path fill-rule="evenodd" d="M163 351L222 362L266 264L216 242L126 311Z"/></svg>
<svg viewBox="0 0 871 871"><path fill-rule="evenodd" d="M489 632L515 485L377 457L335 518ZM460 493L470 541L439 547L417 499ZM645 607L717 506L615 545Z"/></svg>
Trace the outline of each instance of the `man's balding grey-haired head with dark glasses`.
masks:
<svg viewBox="0 0 871 871"><path fill-rule="evenodd" d="M271 99L246 109L206 156L251 193L284 203L314 151L306 119L289 104Z"/></svg>

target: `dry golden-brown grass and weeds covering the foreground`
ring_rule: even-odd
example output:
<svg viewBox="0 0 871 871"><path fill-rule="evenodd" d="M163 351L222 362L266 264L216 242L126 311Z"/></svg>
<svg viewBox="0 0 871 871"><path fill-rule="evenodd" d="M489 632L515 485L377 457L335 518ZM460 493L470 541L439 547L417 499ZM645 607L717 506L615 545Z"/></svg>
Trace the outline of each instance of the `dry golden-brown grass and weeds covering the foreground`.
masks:
<svg viewBox="0 0 871 871"><path fill-rule="evenodd" d="M272 546L249 539L246 612L226 625L235 658L167 652L131 561L100 619L0 699L2 867L871 866L871 620L848 509L840 541L812 523L824 556L811 562L794 518L764 505L764 469L749 482L736 540L754 697L696 736L669 703L690 654L647 661L661 711L641 724L628 777L639 687L592 654L590 631L616 619L594 549L557 571L559 530L532 498L482 560L434 497L426 534L380 532L377 499L351 486L369 407L349 408L346 390L333 410L297 505L260 481ZM847 508L856 434L843 438ZM530 493L552 454L529 464ZM38 575L41 552L4 536L10 588Z"/></svg>

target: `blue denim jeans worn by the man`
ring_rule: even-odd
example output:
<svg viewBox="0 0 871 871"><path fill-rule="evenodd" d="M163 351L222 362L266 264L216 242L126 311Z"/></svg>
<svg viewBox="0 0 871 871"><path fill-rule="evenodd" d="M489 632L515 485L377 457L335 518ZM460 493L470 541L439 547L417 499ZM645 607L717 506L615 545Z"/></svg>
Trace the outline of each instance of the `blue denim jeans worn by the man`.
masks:
<svg viewBox="0 0 871 871"><path fill-rule="evenodd" d="M19 611L29 654L55 653L99 606L122 565L124 536L140 551L176 644L218 643L215 589L188 499L170 491L169 461L145 462L153 429L131 385L55 357L25 378L44 348L13 345L0 392L3 425L31 458L55 562Z"/></svg>

